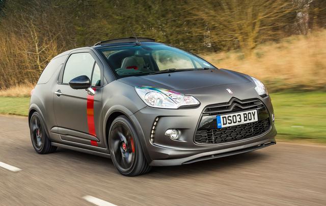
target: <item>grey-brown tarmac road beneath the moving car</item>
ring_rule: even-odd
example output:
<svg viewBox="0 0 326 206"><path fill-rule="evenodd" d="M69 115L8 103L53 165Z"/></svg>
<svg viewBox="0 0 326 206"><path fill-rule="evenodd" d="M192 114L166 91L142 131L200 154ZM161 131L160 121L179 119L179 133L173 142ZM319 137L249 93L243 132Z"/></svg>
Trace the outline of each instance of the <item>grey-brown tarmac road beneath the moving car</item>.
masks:
<svg viewBox="0 0 326 206"><path fill-rule="evenodd" d="M247 154L127 178L110 159L38 155L26 117L0 116L0 205L326 205L326 146L278 142Z"/></svg>

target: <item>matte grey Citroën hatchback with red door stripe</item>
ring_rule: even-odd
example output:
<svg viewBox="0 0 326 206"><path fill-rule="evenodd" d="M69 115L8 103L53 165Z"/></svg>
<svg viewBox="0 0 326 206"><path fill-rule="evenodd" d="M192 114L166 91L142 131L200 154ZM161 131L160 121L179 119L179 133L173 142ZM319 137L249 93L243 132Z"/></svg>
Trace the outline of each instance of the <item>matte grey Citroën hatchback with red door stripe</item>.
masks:
<svg viewBox="0 0 326 206"><path fill-rule="evenodd" d="M274 121L258 79L135 37L52 58L29 108L37 153L108 157L126 176L265 148L276 143Z"/></svg>

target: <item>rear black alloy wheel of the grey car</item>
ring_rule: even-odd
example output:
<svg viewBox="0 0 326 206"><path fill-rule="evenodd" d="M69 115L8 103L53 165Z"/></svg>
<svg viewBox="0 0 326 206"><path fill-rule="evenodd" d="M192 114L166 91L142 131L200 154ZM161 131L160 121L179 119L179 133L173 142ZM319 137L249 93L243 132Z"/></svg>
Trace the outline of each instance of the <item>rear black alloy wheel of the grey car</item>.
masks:
<svg viewBox="0 0 326 206"><path fill-rule="evenodd" d="M30 132L32 144L37 153L47 154L57 150L57 146L51 145L51 141L45 132L45 124L37 112L34 112L31 116Z"/></svg>

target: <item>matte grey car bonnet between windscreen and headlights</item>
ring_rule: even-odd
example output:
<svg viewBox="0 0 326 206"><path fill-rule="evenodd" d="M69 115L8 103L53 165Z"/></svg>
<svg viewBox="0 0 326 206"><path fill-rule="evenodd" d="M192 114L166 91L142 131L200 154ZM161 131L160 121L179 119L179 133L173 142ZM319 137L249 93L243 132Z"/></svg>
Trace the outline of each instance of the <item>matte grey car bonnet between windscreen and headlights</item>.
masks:
<svg viewBox="0 0 326 206"><path fill-rule="evenodd" d="M118 81L131 86L153 86L167 90L193 90L207 86L250 82L248 75L226 69L181 71L124 77Z"/></svg>

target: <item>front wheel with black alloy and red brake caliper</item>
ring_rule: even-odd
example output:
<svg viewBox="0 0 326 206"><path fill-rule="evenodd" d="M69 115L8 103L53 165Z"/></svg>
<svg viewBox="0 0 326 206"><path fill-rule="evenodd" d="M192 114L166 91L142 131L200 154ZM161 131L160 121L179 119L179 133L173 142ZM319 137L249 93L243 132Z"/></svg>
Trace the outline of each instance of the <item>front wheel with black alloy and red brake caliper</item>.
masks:
<svg viewBox="0 0 326 206"><path fill-rule="evenodd" d="M150 171L134 127L126 116L118 116L112 123L108 145L112 161L126 176L137 176Z"/></svg>

